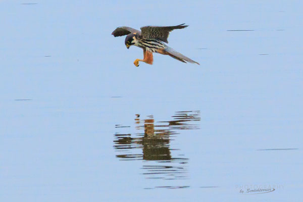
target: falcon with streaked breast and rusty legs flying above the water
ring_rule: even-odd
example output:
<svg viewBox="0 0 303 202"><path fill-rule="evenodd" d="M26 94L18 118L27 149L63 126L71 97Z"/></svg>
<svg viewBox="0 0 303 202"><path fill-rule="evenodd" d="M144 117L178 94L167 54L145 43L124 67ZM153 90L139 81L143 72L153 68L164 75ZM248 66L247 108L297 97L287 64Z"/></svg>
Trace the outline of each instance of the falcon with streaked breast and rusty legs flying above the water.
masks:
<svg viewBox="0 0 303 202"><path fill-rule="evenodd" d="M168 27L145 26L140 28L141 31L131 27L118 27L113 31L112 35L115 37L127 35L125 38L125 45L127 48L131 45L135 45L143 49L143 60L136 59L134 61L134 65L136 67L139 66L139 61L152 65L154 61L153 53L168 55L183 63L189 62L200 65L199 63L176 52L166 44L168 43L167 38L170 31L174 29L183 29L187 26L188 25L184 24Z"/></svg>

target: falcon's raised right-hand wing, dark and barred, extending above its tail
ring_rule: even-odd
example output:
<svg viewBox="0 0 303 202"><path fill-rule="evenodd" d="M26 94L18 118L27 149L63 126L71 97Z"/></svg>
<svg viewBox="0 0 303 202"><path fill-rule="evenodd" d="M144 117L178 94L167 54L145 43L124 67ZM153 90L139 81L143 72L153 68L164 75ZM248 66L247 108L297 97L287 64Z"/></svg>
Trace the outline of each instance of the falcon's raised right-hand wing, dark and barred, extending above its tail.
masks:
<svg viewBox="0 0 303 202"><path fill-rule="evenodd" d="M141 36L145 38L156 38L168 43L167 38L169 32L174 29L183 29L188 25L184 25L185 23L177 26L169 26L169 27L160 27L160 26L145 26L141 27Z"/></svg>

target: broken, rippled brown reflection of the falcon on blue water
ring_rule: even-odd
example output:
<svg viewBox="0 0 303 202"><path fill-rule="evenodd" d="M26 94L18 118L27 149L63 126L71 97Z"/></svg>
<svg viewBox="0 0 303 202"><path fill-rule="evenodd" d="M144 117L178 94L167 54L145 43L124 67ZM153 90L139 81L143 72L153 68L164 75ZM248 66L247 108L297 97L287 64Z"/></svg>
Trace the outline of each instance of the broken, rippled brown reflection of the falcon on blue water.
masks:
<svg viewBox="0 0 303 202"><path fill-rule="evenodd" d="M155 122L153 116L141 120L135 115L135 132L116 133L114 148L116 157L120 160L143 161L143 175L154 179L183 179L186 178L188 159L179 149L171 148L172 137L180 130L198 129L195 121L200 121L199 111L176 112L171 121ZM116 129L131 130L130 126L116 125Z"/></svg>

